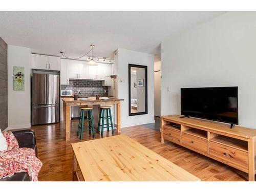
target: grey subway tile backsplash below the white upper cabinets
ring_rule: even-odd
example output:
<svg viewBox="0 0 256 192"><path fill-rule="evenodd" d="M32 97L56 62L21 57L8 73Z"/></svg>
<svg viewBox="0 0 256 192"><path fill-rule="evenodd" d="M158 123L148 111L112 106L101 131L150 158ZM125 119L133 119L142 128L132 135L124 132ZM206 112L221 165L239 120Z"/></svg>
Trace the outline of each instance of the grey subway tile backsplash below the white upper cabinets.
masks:
<svg viewBox="0 0 256 192"><path fill-rule="evenodd" d="M78 80L70 79L68 85L61 84L61 90L73 90L74 94L78 94L81 90L81 95L92 96L93 93L100 96L108 96L108 87L102 86L102 80Z"/></svg>

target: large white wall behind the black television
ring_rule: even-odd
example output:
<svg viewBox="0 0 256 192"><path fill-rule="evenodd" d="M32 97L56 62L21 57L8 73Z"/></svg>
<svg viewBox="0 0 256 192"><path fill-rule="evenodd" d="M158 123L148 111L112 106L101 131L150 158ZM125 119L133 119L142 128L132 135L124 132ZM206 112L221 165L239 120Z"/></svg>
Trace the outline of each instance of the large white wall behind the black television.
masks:
<svg viewBox="0 0 256 192"><path fill-rule="evenodd" d="M256 12L228 12L162 42L161 115L180 114L180 88L238 86L239 124L256 128L255 53Z"/></svg>

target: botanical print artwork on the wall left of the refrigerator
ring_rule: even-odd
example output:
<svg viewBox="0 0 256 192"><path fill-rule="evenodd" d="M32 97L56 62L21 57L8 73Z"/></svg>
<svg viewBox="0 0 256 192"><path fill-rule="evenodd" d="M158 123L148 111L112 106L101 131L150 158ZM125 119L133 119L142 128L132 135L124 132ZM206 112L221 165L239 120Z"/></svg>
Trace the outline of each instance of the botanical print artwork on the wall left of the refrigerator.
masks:
<svg viewBox="0 0 256 192"><path fill-rule="evenodd" d="M24 67L13 66L13 91L25 90Z"/></svg>

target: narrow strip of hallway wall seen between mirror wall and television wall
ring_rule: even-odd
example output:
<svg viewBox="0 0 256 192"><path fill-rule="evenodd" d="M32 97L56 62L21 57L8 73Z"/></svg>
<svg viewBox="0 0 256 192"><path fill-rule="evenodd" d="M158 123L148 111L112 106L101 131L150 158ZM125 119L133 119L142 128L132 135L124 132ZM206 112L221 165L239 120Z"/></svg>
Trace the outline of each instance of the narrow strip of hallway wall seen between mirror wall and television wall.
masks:
<svg viewBox="0 0 256 192"><path fill-rule="evenodd" d="M155 72L155 116L161 116L161 61L154 64Z"/></svg>

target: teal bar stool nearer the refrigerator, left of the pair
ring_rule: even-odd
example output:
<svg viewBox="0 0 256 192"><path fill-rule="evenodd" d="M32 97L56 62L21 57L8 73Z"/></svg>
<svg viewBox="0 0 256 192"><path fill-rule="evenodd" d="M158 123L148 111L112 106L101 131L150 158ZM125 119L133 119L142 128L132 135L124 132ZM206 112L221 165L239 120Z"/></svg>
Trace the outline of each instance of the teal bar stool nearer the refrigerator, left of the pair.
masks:
<svg viewBox="0 0 256 192"><path fill-rule="evenodd" d="M89 124L89 134L91 134L91 131L93 132L93 137L95 137L94 133L94 123L93 123L93 111L92 107L81 107L80 108L80 118L79 118L79 123L78 123L78 129L77 129L77 134L76 136L79 135L80 132L80 139L82 139L82 134L83 134L83 127L84 127L84 121L88 121ZM87 118L84 118L85 112L88 112Z"/></svg>

